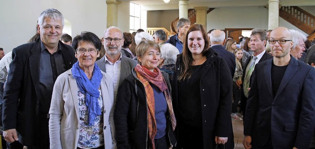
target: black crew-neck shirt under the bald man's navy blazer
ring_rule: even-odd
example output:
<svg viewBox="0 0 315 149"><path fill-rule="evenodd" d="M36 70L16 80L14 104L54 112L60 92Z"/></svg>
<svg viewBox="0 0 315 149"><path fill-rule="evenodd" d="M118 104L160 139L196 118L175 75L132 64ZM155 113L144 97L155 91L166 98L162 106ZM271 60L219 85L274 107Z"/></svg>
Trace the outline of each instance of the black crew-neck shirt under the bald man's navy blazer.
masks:
<svg viewBox="0 0 315 149"><path fill-rule="evenodd" d="M282 81L282 78L284 77L285 70L287 68L287 65L285 66L276 66L275 64L272 64L271 67L271 82L272 82L272 92L274 94L274 97L276 96L280 83Z"/></svg>

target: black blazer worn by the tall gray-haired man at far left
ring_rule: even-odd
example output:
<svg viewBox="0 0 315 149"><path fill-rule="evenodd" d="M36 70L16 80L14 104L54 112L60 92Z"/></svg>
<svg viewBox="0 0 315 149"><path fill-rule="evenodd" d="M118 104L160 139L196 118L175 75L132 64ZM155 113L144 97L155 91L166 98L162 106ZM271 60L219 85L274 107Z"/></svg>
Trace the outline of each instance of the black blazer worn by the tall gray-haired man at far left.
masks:
<svg viewBox="0 0 315 149"><path fill-rule="evenodd" d="M61 41L59 45L66 70L68 70L77 61L74 50ZM39 97L38 93L40 52L40 39L12 50L12 62L4 89L3 129L16 129L23 137L19 141L25 146L33 145L37 141L35 130L38 125L34 122L42 117L42 114L38 113L40 102L46 101L43 104L50 104L51 101L51 99Z"/></svg>

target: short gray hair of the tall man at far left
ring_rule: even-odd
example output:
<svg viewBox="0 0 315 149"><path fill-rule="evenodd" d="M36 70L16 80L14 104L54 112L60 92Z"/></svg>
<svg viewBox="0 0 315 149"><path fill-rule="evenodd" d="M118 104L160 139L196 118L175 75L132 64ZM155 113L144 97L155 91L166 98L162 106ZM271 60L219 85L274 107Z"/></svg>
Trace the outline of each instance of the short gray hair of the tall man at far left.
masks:
<svg viewBox="0 0 315 149"><path fill-rule="evenodd" d="M46 9L42 13L40 13L40 15L38 17L38 23L37 24L40 27L42 27L44 19L47 17L52 18L52 19L61 19L61 23L64 26L63 14L60 11L58 11L57 9Z"/></svg>

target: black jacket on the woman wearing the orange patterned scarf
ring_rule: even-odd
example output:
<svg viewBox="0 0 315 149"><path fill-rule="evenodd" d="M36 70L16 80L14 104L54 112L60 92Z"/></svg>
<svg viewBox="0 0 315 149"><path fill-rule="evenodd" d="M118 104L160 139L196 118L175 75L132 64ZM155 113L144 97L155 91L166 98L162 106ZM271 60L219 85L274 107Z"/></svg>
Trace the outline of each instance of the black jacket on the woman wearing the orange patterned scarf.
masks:
<svg viewBox="0 0 315 149"><path fill-rule="evenodd" d="M170 89L168 75L162 75ZM170 117L166 120L166 138L176 146ZM118 88L114 112L116 142L118 149L147 149L148 146L148 105L143 84L133 69ZM149 141L150 142L150 141Z"/></svg>

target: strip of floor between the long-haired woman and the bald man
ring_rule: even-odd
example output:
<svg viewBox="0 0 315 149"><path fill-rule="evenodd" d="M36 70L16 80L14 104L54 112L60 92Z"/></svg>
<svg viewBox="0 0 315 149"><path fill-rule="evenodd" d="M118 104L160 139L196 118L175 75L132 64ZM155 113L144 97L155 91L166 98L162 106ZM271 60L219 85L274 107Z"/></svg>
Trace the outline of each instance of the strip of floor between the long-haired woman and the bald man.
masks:
<svg viewBox="0 0 315 149"><path fill-rule="evenodd" d="M242 142L244 139L244 127L243 127L243 121L234 121L232 120L233 125L233 132L234 132L234 143L235 148L234 149L245 149Z"/></svg>

